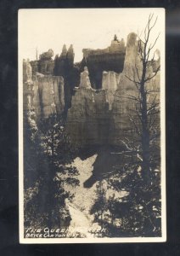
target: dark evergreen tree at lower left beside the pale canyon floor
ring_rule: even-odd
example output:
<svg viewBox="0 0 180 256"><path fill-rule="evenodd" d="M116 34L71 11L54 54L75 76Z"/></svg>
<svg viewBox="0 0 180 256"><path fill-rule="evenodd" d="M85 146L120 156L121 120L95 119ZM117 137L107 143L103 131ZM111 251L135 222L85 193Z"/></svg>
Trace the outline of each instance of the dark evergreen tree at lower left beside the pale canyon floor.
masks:
<svg viewBox="0 0 180 256"><path fill-rule="evenodd" d="M37 129L38 136L32 132L35 144L39 147L36 151L39 160L36 171L39 173L37 192L26 204L25 212L31 222L35 224L36 219L39 219L41 224L49 228L68 226L70 213L65 199L70 199L73 195L65 190L64 185L79 184L76 168L65 166L76 157L77 149L71 146L64 126L62 117L52 113L48 119L41 120Z"/></svg>

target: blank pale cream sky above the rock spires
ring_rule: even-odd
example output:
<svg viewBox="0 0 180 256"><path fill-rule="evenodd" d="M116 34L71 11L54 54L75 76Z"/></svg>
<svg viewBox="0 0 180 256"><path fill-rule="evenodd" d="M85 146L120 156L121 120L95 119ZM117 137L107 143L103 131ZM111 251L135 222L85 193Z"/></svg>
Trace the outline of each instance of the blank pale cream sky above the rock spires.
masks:
<svg viewBox="0 0 180 256"><path fill-rule="evenodd" d="M82 49L104 49L114 35L124 38L130 32L143 31L149 14L158 16L151 33L153 42L160 32L156 48L165 44L164 9L20 9L19 54L23 59L36 60L38 55L53 49L60 54L63 45L73 44L75 61L82 61Z"/></svg>

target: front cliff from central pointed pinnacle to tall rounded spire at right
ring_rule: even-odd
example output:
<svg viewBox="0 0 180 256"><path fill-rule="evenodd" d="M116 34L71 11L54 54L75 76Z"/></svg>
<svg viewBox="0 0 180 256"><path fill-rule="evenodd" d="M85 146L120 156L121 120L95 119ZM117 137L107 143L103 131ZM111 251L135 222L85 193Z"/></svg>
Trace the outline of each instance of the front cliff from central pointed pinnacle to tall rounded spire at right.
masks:
<svg viewBox="0 0 180 256"><path fill-rule="evenodd" d="M127 37L126 56L121 73L103 72L102 89L94 90L88 79L87 67L81 74L79 88L72 96L68 111L66 129L73 143L82 146L90 144L121 145L121 140L132 131L133 119L138 119L134 110L137 108L133 97L138 97L138 90L130 79L137 79L134 68L142 73L142 63L138 53L138 41L135 33ZM153 67L149 67L153 74ZM135 77L134 77L135 76ZM127 79L129 78L129 79ZM152 102L157 94L159 100L160 74L150 80L148 89L152 90L148 101Z"/></svg>

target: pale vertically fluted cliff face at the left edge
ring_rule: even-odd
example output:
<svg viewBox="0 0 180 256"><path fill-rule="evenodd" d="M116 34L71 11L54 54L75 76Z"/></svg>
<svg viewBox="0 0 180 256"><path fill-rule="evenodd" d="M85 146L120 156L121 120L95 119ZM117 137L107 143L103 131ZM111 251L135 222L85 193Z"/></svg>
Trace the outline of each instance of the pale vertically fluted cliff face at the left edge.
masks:
<svg viewBox="0 0 180 256"><path fill-rule="evenodd" d="M34 109L37 119L50 113L62 113L65 107L64 79L58 76L32 75L29 61L23 62L24 110Z"/></svg>

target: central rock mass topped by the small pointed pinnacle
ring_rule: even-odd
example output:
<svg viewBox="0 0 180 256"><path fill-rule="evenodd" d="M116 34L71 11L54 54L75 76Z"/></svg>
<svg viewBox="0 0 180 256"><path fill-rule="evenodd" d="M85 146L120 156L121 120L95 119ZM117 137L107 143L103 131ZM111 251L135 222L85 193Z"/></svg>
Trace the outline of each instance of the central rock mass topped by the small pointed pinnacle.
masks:
<svg viewBox="0 0 180 256"><path fill-rule="evenodd" d="M105 90L93 90L87 79L87 68L81 74L79 88L72 96L66 131L72 143L104 145L108 142L110 111Z"/></svg>

